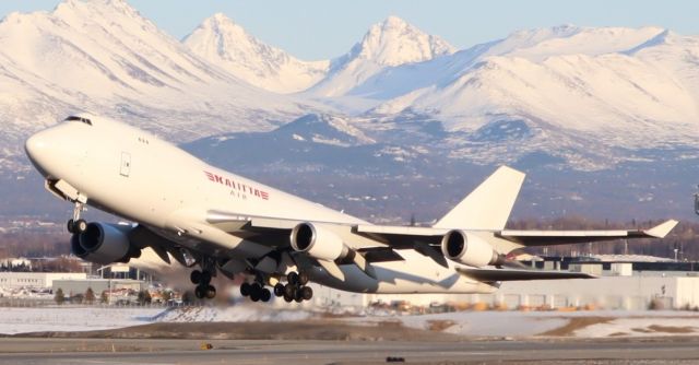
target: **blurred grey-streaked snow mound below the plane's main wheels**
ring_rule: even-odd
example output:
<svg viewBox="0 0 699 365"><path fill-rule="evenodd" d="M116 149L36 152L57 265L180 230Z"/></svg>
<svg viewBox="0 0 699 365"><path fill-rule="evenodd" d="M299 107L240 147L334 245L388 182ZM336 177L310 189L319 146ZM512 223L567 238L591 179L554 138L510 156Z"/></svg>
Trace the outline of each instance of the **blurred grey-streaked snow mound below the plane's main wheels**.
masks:
<svg viewBox="0 0 699 365"><path fill-rule="evenodd" d="M285 322L311 318L307 310L279 309L257 305L233 307L182 307L167 310L154 320L162 322Z"/></svg>

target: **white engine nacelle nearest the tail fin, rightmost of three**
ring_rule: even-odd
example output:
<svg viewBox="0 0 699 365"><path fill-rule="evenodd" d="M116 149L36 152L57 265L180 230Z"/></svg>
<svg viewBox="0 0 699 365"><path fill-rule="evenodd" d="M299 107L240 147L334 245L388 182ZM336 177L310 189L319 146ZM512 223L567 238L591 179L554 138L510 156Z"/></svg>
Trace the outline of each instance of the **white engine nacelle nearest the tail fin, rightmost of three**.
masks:
<svg viewBox="0 0 699 365"><path fill-rule="evenodd" d="M441 252L450 260L482 268L498 260L498 252L483 238L464 231L450 231L441 239Z"/></svg>

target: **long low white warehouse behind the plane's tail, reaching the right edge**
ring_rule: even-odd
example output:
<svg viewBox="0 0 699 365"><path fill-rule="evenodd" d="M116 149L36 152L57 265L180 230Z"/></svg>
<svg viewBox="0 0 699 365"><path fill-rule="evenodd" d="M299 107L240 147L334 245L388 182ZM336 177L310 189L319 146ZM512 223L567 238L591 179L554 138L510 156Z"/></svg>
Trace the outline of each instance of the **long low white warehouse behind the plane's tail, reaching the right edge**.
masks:
<svg viewBox="0 0 699 365"><path fill-rule="evenodd" d="M605 272L608 274L608 272ZM505 282L493 294L357 294L315 286L311 305L366 307L375 302L485 304L493 308L597 308L642 310L699 307L699 276L685 272L635 272L632 276Z"/></svg>

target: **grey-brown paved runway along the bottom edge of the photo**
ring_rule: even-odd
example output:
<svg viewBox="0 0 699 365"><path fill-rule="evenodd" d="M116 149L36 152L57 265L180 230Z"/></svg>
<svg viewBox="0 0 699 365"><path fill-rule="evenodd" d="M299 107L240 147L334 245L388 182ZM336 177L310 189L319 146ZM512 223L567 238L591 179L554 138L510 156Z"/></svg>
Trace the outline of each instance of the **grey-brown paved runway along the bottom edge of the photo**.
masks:
<svg viewBox="0 0 699 365"><path fill-rule="evenodd" d="M212 350L201 350L202 342ZM460 342L0 339L0 364L696 364L699 339Z"/></svg>

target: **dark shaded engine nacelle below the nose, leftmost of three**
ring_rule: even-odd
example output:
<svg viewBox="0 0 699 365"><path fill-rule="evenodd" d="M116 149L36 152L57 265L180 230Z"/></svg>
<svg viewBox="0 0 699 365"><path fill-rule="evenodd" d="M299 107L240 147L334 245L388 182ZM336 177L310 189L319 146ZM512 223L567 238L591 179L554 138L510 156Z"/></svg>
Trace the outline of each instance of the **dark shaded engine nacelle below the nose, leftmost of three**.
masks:
<svg viewBox="0 0 699 365"><path fill-rule="evenodd" d="M71 250L79 258L107 264L127 262L132 255L127 231L131 227L104 223L90 223L85 232L73 235Z"/></svg>

